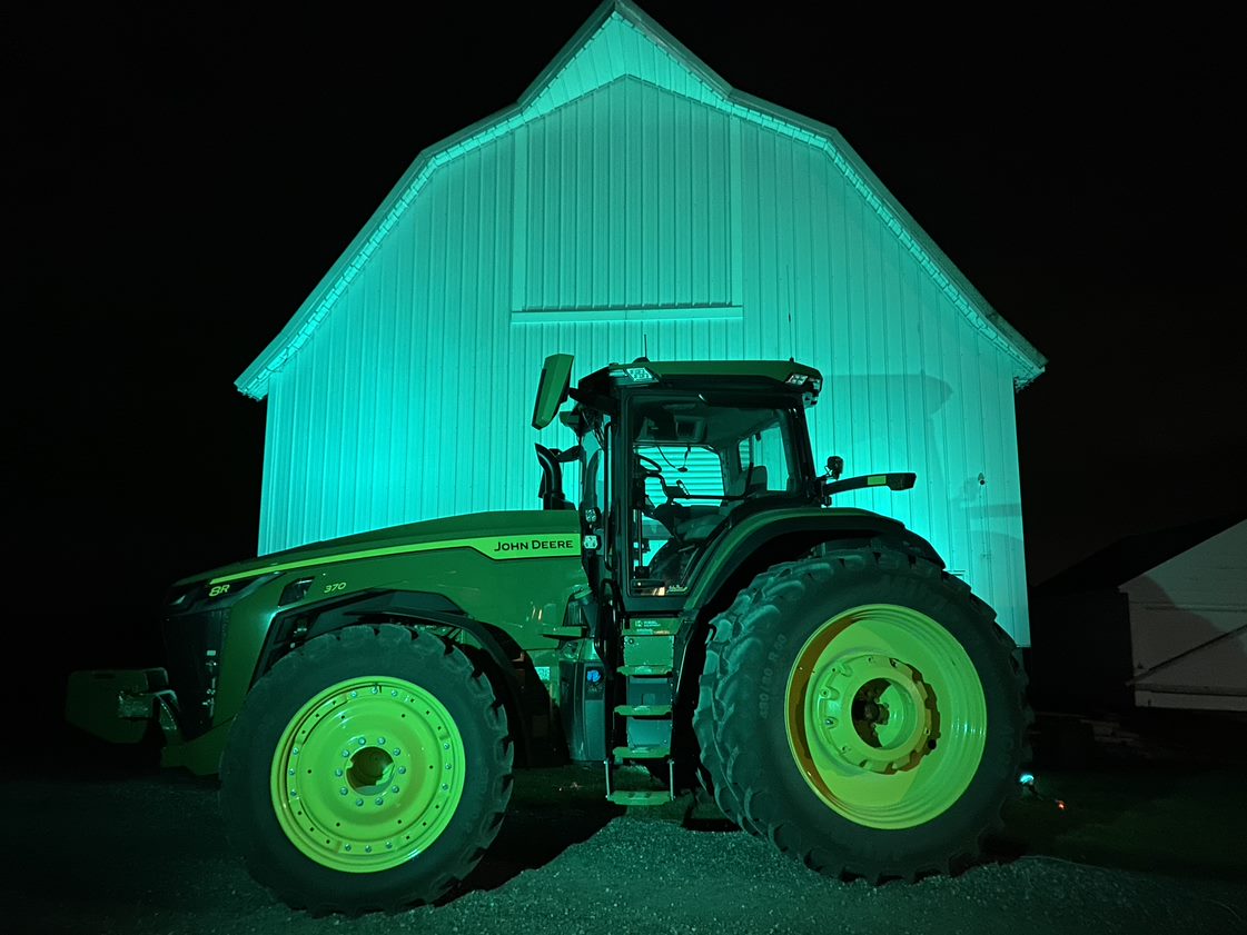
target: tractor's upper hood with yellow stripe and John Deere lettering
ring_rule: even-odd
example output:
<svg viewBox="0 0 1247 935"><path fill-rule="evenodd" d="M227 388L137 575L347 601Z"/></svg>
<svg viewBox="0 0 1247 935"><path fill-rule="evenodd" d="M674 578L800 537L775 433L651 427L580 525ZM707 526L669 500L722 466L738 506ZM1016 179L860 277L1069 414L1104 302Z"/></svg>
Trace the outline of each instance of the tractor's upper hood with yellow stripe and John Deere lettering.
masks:
<svg viewBox="0 0 1247 935"><path fill-rule="evenodd" d="M272 552L192 575L177 586L439 549L473 549L494 560L574 557L580 555L580 519L572 510L500 510L409 522Z"/></svg>

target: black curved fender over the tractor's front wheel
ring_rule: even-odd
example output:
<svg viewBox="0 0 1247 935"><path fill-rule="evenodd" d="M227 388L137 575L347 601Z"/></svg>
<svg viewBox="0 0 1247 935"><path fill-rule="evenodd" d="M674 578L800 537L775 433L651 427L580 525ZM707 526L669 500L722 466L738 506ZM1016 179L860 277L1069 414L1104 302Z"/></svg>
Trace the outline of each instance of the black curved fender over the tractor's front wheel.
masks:
<svg viewBox="0 0 1247 935"><path fill-rule="evenodd" d="M511 736L525 757L530 749L529 721L524 716L522 691L511 659L519 646L501 630L469 617L444 595L424 591L362 591L347 600L324 601L291 608L273 618L254 678L263 676L294 643L324 633L368 623L399 623L409 627L450 627L480 645L461 646L494 684L510 722ZM254 683L254 679L253 679Z"/></svg>

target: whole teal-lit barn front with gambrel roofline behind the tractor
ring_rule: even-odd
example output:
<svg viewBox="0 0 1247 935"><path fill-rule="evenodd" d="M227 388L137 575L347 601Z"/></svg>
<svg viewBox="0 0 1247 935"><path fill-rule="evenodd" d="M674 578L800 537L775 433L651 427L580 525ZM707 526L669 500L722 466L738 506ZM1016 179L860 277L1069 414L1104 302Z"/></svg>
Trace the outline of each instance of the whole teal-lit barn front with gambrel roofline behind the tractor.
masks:
<svg viewBox="0 0 1247 935"><path fill-rule="evenodd" d="M532 443L571 441L529 426L546 354L796 357L827 376L819 460L919 475L838 504L929 537L1029 643L1014 391L1042 359L834 131L656 29L604 5L516 108L423 153L239 378L267 394L259 551L536 509Z"/></svg>

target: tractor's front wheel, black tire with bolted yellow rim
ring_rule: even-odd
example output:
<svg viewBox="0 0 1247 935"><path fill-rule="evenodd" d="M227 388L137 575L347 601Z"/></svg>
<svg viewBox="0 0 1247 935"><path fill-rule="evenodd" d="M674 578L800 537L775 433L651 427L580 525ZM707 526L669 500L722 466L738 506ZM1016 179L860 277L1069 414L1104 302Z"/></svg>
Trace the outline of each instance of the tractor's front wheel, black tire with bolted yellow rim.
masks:
<svg viewBox="0 0 1247 935"><path fill-rule="evenodd" d="M348 627L248 694L221 764L226 832L294 908L431 903L498 834L511 759L503 706L453 643Z"/></svg>

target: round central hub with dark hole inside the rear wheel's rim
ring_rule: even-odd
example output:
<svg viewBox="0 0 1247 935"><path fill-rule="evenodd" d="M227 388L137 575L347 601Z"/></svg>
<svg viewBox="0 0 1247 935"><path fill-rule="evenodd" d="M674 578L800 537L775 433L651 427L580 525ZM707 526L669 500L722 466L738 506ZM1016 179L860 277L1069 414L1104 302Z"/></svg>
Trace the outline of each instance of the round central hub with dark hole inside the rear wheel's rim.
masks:
<svg viewBox="0 0 1247 935"><path fill-rule="evenodd" d="M816 739L839 760L889 773L927 753L930 696L904 662L874 653L839 658L816 674L813 691Z"/></svg>

